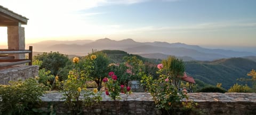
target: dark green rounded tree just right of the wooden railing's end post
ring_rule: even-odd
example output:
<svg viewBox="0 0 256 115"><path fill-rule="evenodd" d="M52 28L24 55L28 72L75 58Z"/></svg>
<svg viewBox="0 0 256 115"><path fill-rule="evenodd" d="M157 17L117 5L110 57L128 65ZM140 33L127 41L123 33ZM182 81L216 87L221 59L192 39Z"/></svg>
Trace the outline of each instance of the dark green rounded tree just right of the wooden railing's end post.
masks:
<svg viewBox="0 0 256 115"><path fill-rule="evenodd" d="M42 55L37 55L34 58L35 60L42 61L39 69L45 68L50 70L54 76L58 75L59 68L64 68L66 64L71 64L67 55L60 54L59 52L44 52Z"/></svg>

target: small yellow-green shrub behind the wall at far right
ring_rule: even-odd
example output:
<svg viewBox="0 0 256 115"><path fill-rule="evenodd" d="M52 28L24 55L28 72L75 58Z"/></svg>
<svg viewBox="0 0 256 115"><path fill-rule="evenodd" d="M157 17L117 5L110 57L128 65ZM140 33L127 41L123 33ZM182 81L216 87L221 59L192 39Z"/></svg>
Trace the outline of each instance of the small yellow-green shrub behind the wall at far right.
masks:
<svg viewBox="0 0 256 115"><path fill-rule="evenodd" d="M237 93L251 93L252 89L247 85L238 85L237 83L234 84L228 92L237 92Z"/></svg>

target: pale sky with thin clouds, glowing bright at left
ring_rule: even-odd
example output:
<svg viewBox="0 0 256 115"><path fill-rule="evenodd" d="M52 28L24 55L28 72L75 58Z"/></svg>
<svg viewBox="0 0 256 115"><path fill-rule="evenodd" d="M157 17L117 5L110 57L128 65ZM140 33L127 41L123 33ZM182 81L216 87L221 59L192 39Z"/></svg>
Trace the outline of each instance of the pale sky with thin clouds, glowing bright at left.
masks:
<svg viewBox="0 0 256 115"><path fill-rule="evenodd" d="M1 0L28 18L26 43L132 38L208 47L256 47L255 0ZM0 45L7 29L0 27Z"/></svg>

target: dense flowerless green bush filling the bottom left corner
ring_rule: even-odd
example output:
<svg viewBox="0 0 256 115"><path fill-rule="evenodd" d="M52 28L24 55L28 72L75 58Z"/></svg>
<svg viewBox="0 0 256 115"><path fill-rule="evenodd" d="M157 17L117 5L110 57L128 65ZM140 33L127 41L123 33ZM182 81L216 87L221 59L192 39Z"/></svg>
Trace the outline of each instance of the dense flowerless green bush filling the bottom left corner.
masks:
<svg viewBox="0 0 256 115"><path fill-rule="evenodd" d="M36 114L40 96L48 88L33 78L0 85L0 114Z"/></svg>

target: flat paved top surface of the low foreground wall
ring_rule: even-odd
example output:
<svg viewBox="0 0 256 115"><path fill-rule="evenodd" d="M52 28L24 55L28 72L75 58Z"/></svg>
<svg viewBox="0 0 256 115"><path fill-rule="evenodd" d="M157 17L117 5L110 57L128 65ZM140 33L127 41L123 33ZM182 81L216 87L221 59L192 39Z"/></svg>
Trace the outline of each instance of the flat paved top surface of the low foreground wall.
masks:
<svg viewBox="0 0 256 115"><path fill-rule="evenodd" d="M125 94L120 94L121 100L126 100ZM102 93L102 101L112 101L108 95ZM189 100L194 102L253 102L256 103L256 93L188 93ZM61 92L48 92L41 97L42 101L65 101L62 100ZM83 98L83 97L81 97ZM127 97L127 101L153 101L150 93L132 93ZM186 101L183 99L183 101Z"/></svg>

